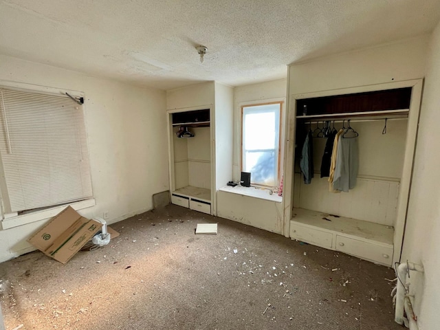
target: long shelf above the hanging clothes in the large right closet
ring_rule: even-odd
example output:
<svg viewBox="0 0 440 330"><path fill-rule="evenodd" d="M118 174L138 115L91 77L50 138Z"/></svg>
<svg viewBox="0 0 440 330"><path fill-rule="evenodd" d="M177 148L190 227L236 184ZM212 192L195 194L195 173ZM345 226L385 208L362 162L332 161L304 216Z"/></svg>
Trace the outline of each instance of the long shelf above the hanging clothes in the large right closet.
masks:
<svg viewBox="0 0 440 330"><path fill-rule="evenodd" d="M297 115L297 119L321 119L338 120L342 118L362 118L362 119L380 119L380 118L408 118L410 109L398 109L387 111L364 111L364 112L344 112L344 113L326 113L320 115Z"/></svg>

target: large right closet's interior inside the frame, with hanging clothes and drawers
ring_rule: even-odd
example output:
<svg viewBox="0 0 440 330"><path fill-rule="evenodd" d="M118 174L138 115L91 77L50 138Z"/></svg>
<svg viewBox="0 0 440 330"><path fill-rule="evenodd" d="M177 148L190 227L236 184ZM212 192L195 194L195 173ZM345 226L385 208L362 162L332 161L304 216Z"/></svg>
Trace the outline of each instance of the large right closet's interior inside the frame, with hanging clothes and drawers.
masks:
<svg viewBox="0 0 440 330"><path fill-rule="evenodd" d="M411 96L404 87L296 100L292 239L392 265Z"/></svg>

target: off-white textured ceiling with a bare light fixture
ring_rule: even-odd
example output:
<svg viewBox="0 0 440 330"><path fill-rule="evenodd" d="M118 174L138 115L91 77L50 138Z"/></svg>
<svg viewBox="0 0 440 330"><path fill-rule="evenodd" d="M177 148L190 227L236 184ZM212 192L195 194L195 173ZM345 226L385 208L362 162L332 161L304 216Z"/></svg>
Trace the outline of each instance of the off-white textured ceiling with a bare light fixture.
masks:
<svg viewBox="0 0 440 330"><path fill-rule="evenodd" d="M238 86L439 20L439 0L0 0L0 54L160 89Z"/></svg>

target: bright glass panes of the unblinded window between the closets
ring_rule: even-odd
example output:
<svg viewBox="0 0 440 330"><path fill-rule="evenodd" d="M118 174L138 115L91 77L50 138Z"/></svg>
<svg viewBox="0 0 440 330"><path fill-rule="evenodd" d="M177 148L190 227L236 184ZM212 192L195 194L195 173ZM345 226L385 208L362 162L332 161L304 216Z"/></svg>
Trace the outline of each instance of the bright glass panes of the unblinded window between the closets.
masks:
<svg viewBox="0 0 440 330"><path fill-rule="evenodd" d="M252 184L278 186L282 104L273 102L241 107L241 170L251 173Z"/></svg>

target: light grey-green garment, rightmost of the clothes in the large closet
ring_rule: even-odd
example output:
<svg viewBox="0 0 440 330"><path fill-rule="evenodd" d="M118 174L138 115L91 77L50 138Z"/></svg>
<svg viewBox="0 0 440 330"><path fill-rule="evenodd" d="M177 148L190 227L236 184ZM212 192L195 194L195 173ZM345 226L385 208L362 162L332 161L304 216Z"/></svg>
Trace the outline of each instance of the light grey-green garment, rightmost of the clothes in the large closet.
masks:
<svg viewBox="0 0 440 330"><path fill-rule="evenodd" d="M333 189L349 192L356 186L359 168L358 138L340 137L336 156Z"/></svg>

